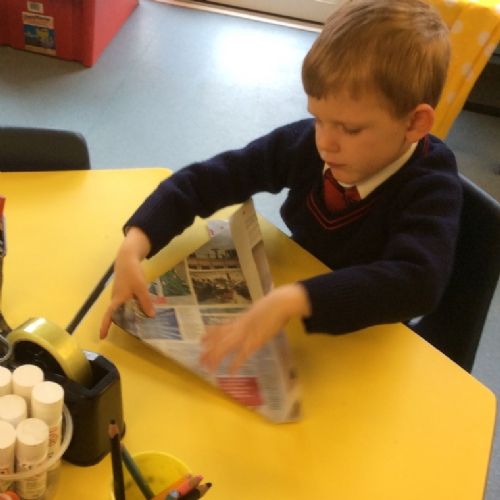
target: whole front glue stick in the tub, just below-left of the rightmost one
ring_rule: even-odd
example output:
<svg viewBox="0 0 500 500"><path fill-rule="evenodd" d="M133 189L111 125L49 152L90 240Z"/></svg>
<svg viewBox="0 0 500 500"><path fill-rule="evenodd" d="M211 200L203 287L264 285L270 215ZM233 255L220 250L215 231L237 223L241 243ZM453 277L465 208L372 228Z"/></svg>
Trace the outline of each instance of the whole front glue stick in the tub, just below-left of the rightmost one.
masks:
<svg viewBox="0 0 500 500"><path fill-rule="evenodd" d="M49 427L39 418L27 418L16 429L16 472L38 468L47 460ZM47 471L17 481L16 491L24 500L43 498Z"/></svg>

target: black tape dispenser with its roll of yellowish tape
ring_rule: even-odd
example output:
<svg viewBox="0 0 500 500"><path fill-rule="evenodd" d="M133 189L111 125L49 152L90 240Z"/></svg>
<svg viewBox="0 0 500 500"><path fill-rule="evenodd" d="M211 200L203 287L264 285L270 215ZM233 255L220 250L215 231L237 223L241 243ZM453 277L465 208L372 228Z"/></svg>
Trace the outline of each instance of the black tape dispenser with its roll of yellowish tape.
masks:
<svg viewBox="0 0 500 500"><path fill-rule="evenodd" d="M125 432L117 368L97 353L82 351L68 331L41 317L11 330L6 341L5 364L35 364L46 380L64 388L74 431L63 458L75 465L94 465L104 458L110 449L109 421L114 419Z"/></svg>

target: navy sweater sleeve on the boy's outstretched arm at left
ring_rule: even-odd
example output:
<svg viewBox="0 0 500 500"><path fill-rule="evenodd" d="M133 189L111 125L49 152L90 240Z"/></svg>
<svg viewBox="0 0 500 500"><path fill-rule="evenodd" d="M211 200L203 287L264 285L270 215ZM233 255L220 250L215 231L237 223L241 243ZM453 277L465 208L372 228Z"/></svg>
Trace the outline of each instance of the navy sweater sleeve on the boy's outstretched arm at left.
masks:
<svg viewBox="0 0 500 500"><path fill-rule="evenodd" d="M196 216L242 203L253 194L277 193L286 187L298 165L294 150L310 140L311 120L280 127L245 148L193 163L161 182L135 211L125 227L141 228L151 243L151 257Z"/></svg>

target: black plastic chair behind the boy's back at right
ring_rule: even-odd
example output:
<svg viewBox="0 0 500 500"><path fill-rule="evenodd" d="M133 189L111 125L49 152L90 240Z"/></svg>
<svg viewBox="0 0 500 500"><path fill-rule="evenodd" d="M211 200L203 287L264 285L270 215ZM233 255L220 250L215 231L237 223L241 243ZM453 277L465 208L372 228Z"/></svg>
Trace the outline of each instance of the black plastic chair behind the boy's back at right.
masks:
<svg viewBox="0 0 500 500"><path fill-rule="evenodd" d="M461 176L455 263L437 309L411 328L470 372L500 273L500 204Z"/></svg>

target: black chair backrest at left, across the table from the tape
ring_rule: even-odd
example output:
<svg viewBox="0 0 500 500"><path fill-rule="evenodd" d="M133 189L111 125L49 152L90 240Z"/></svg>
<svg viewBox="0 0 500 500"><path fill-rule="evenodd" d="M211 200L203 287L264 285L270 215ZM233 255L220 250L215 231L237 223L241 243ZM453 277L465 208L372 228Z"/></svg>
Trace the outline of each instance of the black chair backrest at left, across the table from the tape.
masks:
<svg viewBox="0 0 500 500"><path fill-rule="evenodd" d="M69 130L0 127L0 171L87 170L85 138Z"/></svg>

